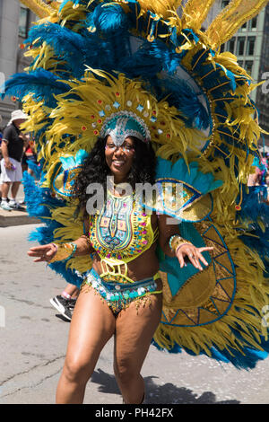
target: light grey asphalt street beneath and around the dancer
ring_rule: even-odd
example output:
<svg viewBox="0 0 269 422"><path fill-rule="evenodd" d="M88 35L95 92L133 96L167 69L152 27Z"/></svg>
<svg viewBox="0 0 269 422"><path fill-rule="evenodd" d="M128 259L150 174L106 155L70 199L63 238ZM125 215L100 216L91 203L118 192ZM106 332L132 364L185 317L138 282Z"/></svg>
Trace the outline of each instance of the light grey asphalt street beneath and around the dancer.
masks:
<svg viewBox="0 0 269 422"><path fill-rule="evenodd" d="M27 255L34 225L0 228L0 404L53 404L70 323L49 303L65 286ZM113 339L88 382L85 404L120 404ZM269 358L250 372L206 356L170 355L151 347L143 365L147 403L268 404Z"/></svg>

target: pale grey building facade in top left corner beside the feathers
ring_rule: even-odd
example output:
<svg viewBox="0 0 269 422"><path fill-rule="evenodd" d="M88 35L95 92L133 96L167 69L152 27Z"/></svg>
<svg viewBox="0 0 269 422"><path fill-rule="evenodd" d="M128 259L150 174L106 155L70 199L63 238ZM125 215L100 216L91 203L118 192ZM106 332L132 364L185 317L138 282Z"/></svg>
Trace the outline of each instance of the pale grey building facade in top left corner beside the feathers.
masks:
<svg viewBox="0 0 269 422"><path fill-rule="evenodd" d="M36 16L19 0L0 0L0 86L8 77L23 72L28 66L21 46L35 21ZM7 123L10 113L18 107L18 102L0 98L0 127Z"/></svg>

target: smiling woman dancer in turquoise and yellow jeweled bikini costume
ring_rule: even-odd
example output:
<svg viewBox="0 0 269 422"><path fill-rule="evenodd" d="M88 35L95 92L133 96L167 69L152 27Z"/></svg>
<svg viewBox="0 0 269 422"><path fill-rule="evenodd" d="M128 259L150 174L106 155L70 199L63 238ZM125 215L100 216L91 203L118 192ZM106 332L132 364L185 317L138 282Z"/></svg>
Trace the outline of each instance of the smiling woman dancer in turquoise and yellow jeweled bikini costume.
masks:
<svg viewBox="0 0 269 422"><path fill-rule="evenodd" d="M57 388L58 403L82 402L86 383L100 351L113 335L114 371L123 400L126 403L143 402L144 385L140 372L160 323L162 308L156 243L160 243L166 255L177 256L181 267L184 266L184 259L189 259L200 270L203 269L202 263L207 266L202 252L213 249L196 248L183 240L178 224L168 225L165 215L138 214L140 205L134 204L134 195L121 194L120 184L128 182L134 189L135 183L154 182L155 156L152 145L145 142L142 133L140 135L140 139L134 138L126 131L122 145L118 145L117 139L115 145L110 135L100 138L76 183L81 206L86 208L85 189L89 182L99 180L101 174L102 179L111 175L115 181L114 187L108 189L106 206L100 215L90 215L90 218L87 215L86 234L68 244L70 251L75 254L94 253L94 258L74 309L65 367ZM112 221L115 219L117 226ZM141 224L145 230L139 240L134 233ZM127 239L129 232L130 239ZM100 247L101 242L105 243L104 248ZM126 248L119 248L118 244L115 248L116 242L121 242L121 246L126 244ZM59 247L56 244L34 247L29 255L36 257L35 261L52 262L66 258L58 256ZM117 261L110 258L115 249L121 253L120 256L117 254ZM120 268L117 274L116 267ZM119 297L117 300L115 295ZM102 297L104 300L101 300Z"/></svg>

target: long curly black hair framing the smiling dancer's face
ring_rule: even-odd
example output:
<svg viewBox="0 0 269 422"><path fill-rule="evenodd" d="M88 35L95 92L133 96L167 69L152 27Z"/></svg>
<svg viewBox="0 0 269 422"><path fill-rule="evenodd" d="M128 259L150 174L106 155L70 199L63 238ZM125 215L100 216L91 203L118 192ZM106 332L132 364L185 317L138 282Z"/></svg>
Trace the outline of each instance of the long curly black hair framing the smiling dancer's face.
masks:
<svg viewBox="0 0 269 422"><path fill-rule="evenodd" d="M134 162L126 180L133 189L136 183L155 182L156 155L152 144L145 144L134 136L129 136L134 142ZM105 146L108 136L99 137L91 149L91 153L84 160L82 170L74 181L73 197L78 199L79 209L86 214L86 203L92 194L87 194L86 189L91 183L102 185L106 198L107 177L110 170L106 162ZM77 210L78 211L78 210Z"/></svg>

